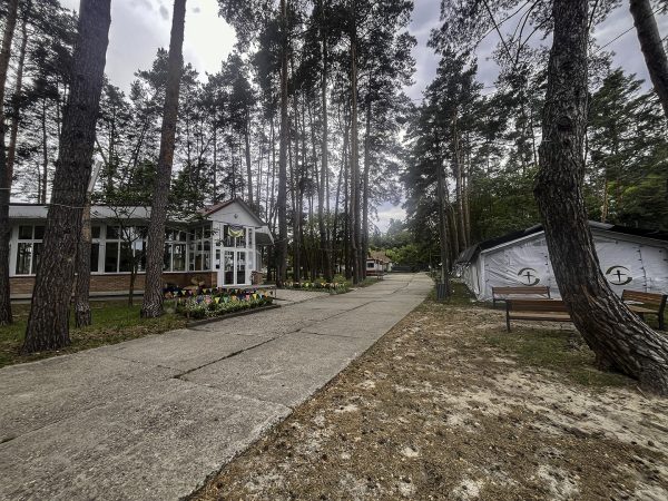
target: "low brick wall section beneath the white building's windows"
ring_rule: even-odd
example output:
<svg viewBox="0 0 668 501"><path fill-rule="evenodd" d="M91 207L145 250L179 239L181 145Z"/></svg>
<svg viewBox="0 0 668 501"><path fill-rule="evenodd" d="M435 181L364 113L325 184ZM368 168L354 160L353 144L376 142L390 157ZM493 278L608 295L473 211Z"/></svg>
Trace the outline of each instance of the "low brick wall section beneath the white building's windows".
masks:
<svg viewBox="0 0 668 501"><path fill-rule="evenodd" d="M146 275L144 273L137 274L135 281L135 292L143 292ZM193 273L165 273L163 274L163 281L165 284L175 284L181 287L193 285L191 281L204 282L205 287L215 287L217 273L216 272L193 272ZM12 298L24 298L32 294L32 287L35 286L35 276L13 276L9 278L11 297ZM130 288L130 274L129 273L115 273L105 275L91 275L90 276L90 294L91 295L105 295L105 294L121 294L127 293Z"/></svg>

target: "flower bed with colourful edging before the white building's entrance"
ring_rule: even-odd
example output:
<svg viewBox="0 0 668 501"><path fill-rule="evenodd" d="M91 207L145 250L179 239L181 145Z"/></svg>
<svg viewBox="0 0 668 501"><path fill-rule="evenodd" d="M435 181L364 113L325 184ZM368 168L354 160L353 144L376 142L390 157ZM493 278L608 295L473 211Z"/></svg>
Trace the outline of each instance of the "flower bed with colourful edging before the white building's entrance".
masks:
<svg viewBox="0 0 668 501"><path fill-rule="evenodd" d="M213 318L244 310L267 306L274 302L272 296L259 292L243 289L204 289L200 292L200 294L188 292L180 296L171 295L171 297L175 297L176 312L186 318ZM170 298L167 294L166 297Z"/></svg>

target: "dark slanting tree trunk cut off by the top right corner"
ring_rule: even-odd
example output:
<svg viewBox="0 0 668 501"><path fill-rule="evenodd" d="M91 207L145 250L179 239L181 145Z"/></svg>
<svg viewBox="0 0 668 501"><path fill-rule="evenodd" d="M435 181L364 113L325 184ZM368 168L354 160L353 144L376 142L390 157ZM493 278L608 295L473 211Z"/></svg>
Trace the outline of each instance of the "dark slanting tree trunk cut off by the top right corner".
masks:
<svg viewBox="0 0 668 501"><path fill-rule="evenodd" d="M630 0L630 10L649 78L668 117L668 58L651 3L649 0Z"/></svg>

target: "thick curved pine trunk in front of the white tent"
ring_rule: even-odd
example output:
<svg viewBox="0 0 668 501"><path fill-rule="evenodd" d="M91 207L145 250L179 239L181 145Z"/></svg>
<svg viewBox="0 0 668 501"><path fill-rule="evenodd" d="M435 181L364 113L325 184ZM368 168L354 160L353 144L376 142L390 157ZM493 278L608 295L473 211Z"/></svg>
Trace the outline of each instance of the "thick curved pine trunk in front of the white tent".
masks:
<svg viewBox="0 0 668 501"><path fill-rule="evenodd" d="M603 277L582 196L587 128L587 1L556 0L540 170L534 193L559 291L599 364L668 394L668 340L616 296Z"/></svg>

